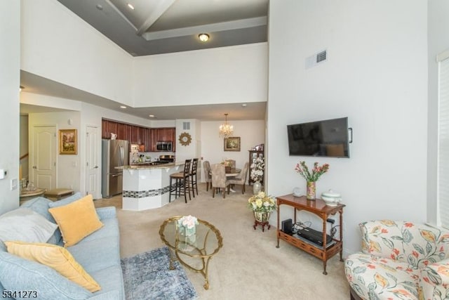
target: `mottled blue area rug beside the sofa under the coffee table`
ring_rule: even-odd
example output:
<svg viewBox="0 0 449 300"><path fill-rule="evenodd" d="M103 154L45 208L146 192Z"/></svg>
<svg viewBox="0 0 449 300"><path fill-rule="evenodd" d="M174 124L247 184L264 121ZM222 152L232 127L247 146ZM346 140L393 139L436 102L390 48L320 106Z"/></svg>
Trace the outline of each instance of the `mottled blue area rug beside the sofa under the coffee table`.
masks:
<svg viewBox="0 0 449 300"><path fill-rule="evenodd" d="M126 299L195 299L196 290L179 261L173 263L175 270L169 266L168 247L122 259Z"/></svg>

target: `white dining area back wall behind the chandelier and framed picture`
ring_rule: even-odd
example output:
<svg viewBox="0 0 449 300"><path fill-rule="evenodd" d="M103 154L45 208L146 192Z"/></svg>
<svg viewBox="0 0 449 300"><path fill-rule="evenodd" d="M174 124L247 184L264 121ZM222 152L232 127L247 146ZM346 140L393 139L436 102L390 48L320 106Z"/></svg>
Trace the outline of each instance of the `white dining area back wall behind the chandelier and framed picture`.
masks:
<svg viewBox="0 0 449 300"><path fill-rule="evenodd" d="M208 160L210 164L217 164L224 159L234 159L236 167L241 169L245 162L249 162L249 152L255 145L263 144L265 141L264 120L231 121L234 126L232 136L240 136L240 151L225 151L223 138L218 135L218 127L223 122L201 122L201 156L203 162ZM204 182L204 175L201 176ZM248 177L249 178L249 177ZM274 223L273 223L274 224Z"/></svg>

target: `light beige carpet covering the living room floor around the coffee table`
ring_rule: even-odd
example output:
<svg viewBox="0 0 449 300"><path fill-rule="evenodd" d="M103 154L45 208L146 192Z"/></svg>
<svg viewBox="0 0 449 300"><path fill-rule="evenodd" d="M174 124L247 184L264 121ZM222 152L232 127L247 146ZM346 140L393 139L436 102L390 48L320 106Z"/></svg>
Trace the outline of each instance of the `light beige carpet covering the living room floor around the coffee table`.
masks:
<svg viewBox="0 0 449 300"><path fill-rule="evenodd" d="M223 247L210 260L209 289L203 288L203 275L185 269L198 299L349 299L349 284L339 255L329 259L328 275L323 275L323 262L316 257L284 241L276 248L276 213L270 217L270 230L265 228L262 233L260 226L253 229L253 212L247 207L252 186L246 187L244 195L236 186L236 193L226 195L225 200L220 194L212 197L205 183L198 188L199 196L187 204L184 197L172 198L159 209L123 211L121 195L95 200L95 205L117 207L122 257L163 247L159 228L171 216L191 214L218 228Z"/></svg>

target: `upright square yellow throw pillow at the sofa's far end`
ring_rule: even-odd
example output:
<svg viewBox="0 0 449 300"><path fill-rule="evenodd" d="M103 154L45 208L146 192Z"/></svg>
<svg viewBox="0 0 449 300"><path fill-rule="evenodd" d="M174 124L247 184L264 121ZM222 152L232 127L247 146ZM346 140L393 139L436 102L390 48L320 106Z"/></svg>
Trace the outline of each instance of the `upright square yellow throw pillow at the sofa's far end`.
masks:
<svg viewBox="0 0 449 300"><path fill-rule="evenodd" d="M95 211L92 195L48 211L58 223L64 247L73 246L103 226Z"/></svg>

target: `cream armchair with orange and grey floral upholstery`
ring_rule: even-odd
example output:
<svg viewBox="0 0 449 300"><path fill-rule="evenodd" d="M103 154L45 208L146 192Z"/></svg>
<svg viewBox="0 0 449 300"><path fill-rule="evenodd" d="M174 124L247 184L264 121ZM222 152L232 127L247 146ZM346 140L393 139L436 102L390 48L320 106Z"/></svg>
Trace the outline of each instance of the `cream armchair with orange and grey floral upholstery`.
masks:
<svg viewBox="0 0 449 300"><path fill-rule="evenodd" d="M351 299L449 298L449 230L391 220L359 226L362 252L344 262Z"/></svg>

